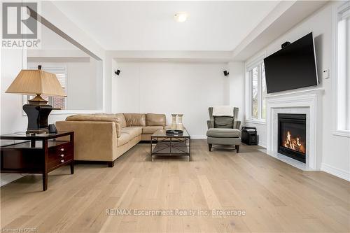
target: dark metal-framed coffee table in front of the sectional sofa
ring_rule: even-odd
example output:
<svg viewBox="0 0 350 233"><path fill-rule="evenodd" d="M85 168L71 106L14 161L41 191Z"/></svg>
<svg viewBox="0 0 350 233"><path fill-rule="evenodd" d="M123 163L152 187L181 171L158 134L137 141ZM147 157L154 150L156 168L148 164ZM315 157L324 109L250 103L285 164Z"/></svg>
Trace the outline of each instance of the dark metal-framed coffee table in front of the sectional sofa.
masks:
<svg viewBox="0 0 350 233"><path fill-rule="evenodd" d="M186 129L179 136L167 135L165 129L159 129L151 136L151 161L153 156L188 156L191 161L191 137Z"/></svg>

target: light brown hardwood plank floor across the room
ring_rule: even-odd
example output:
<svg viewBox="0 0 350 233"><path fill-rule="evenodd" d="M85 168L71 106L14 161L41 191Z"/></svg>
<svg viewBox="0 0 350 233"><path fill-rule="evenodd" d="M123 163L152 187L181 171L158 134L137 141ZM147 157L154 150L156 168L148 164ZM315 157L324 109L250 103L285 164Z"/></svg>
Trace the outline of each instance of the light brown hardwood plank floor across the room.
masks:
<svg viewBox="0 0 350 233"><path fill-rule="evenodd" d="M1 187L1 228L36 232L350 232L350 183L241 146L149 160L138 144L113 168L78 164ZM118 216L106 210L243 210L244 216Z"/></svg>

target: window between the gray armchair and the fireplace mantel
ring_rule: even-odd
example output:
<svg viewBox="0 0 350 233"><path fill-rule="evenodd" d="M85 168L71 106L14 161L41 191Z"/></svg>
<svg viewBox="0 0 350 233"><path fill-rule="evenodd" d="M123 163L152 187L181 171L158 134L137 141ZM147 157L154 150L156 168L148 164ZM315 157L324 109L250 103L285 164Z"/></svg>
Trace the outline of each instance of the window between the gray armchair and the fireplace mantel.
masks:
<svg viewBox="0 0 350 233"><path fill-rule="evenodd" d="M262 62L247 69L248 83L248 120L266 120L266 81L265 67Z"/></svg>

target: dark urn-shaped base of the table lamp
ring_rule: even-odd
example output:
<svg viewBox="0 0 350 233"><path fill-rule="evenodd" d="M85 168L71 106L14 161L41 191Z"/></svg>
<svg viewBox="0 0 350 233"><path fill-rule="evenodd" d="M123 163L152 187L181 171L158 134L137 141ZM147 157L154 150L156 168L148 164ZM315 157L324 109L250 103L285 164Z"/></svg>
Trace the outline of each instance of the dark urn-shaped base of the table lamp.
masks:
<svg viewBox="0 0 350 233"><path fill-rule="evenodd" d="M48 133L48 115L52 111L50 105L25 104L23 111L28 116L27 134Z"/></svg>

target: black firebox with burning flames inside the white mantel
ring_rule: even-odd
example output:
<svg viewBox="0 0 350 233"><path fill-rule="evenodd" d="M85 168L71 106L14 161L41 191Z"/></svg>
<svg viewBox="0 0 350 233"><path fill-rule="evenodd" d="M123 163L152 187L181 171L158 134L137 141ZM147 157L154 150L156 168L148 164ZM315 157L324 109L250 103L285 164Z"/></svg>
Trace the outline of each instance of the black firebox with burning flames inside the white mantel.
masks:
<svg viewBox="0 0 350 233"><path fill-rule="evenodd" d="M306 162L306 114L278 113L278 153Z"/></svg>

